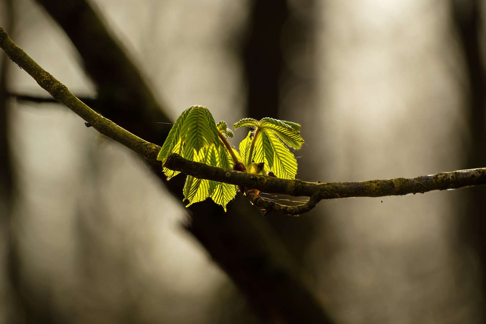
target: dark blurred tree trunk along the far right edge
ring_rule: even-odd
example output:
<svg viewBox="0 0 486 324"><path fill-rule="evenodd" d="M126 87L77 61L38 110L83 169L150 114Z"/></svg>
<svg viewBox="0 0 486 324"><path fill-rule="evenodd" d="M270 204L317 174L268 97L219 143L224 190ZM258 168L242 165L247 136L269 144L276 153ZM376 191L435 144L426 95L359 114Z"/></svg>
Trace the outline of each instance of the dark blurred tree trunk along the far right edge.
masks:
<svg viewBox="0 0 486 324"><path fill-rule="evenodd" d="M466 63L469 83L470 150L466 168L486 166L486 74L482 41L482 1L452 1L452 14ZM483 294L486 294L486 188L467 188L468 208L463 215L462 235L477 251L483 276Z"/></svg>

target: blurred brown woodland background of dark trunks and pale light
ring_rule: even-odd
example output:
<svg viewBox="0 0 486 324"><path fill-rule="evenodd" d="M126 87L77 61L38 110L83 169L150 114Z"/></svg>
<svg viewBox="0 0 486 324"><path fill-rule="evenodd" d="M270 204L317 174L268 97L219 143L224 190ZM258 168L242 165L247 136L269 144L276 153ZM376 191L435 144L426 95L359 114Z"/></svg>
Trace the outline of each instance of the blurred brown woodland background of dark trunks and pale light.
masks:
<svg viewBox="0 0 486 324"><path fill-rule="evenodd" d="M481 0L1 0L0 25L97 112L161 145L302 125L297 177L486 167ZM485 188L185 208L184 177L87 128L5 54L0 323L485 323ZM233 145L246 135L235 132Z"/></svg>

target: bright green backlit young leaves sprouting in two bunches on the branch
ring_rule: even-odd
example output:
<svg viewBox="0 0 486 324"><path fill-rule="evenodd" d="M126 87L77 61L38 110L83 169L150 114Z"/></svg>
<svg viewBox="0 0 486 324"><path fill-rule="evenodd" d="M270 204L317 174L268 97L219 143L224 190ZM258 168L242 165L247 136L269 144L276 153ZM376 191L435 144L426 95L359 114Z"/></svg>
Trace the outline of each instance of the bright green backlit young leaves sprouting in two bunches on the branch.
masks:
<svg viewBox="0 0 486 324"><path fill-rule="evenodd" d="M279 178L295 178L297 161L289 148L300 149L304 142L299 124L273 118L246 118L233 125L233 129L241 127L252 130L237 152L227 141L227 137L233 137L233 132L226 122L216 124L206 107L191 106L175 121L157 160L164 164L171 153L177 153L188 160L219 168L232 169L234 163L242 162L246 172L267 174L272 171ZM164 173L169 180L180 172L164 168ZM234 185L189 175L184 185L184 200L189 200L189 206L210 197L226 211L226 205L236 192Z"/></svg>

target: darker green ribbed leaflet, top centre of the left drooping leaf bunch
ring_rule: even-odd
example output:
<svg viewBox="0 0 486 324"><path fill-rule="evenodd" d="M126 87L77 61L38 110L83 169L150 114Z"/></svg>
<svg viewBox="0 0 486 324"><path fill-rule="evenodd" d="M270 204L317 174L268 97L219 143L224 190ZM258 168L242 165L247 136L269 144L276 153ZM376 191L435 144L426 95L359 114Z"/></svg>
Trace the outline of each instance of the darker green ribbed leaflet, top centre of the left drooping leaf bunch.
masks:
<svg viewBox="0 0 486 324"><path fill-rule="evenodd" d="M196 152L212 143L219 146L218 131L206 107L192 106L180 130L182 140Z"/></svg>

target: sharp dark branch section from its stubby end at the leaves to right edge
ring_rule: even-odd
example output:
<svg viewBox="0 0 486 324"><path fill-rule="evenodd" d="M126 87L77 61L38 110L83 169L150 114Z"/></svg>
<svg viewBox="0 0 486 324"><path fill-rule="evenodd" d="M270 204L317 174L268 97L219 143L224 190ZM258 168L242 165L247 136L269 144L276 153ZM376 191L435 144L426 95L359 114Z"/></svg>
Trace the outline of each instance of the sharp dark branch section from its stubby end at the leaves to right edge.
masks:
<svg viewBox="0 0 486 324"><path fill-rule="evenodd" d="M196 178L226 182L244 188L255 188L291 196L317 195L319 199L399 196L409 193L424 193L432 190L457 189L486 184L486 168L441 172L410 179L395 178L371 181L315 183L298 179L285 180L266 175L221 169L186 160L175 153L169 156L165 167L174 171L184 172Z"/></svg>

